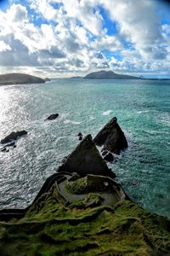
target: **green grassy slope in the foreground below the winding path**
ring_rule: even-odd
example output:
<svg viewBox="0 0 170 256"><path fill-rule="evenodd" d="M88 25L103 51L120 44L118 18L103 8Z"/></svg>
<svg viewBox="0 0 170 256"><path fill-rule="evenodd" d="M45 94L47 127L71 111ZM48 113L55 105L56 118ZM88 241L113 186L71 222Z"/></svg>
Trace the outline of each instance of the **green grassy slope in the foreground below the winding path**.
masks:
<svg viewBox="0 0 170 256"><path fill-rule="evenodd" d="M90 201L92 207L87 207ZM99 206L99 201L96 195L88 195L65 207L51 189L25 218L0 224L1 255L140 256L170 250L167 218L150 214L131 201L115 207Z"/></svg>

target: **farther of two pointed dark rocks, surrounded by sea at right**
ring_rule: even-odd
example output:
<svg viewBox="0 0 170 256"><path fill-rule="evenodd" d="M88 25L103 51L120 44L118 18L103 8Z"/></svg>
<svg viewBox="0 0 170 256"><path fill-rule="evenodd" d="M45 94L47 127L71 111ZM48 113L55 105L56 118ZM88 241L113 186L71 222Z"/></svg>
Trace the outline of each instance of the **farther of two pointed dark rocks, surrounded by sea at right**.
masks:
<svg viewBox="0 0 170 256"><path fill-rule="evenodd" d="M121 150L127 148L127 139L116 121L116 117L112 118L94 137L94 143L98 146L104 145L112 153L120 154Z"/></svg>

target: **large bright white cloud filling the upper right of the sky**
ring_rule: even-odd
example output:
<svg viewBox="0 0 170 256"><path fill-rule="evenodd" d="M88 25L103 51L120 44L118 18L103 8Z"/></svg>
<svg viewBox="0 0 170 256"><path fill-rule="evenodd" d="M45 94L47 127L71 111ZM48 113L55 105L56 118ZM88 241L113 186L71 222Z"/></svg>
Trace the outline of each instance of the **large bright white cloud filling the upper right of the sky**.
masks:
<svg viewBox="0 0 170 256"><path fill-rule="evenodd" d="M156 2L150 0L108 0L101 2L118 22L122 37L134 44L140 54L148 58L165 58L161 25L156 13Z"/></svg>

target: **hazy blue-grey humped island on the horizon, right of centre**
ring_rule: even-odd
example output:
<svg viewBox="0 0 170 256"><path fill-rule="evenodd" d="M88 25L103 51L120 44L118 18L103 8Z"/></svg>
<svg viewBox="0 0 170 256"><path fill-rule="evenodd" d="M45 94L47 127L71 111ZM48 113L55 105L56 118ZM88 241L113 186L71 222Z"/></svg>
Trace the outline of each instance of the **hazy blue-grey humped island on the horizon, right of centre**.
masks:
<svg viewBox="0 0 170 256"><path fill-rule="evenodd" d="M134 76L129 76L129 75L123 75L123 74L118 74L114 73L113 71L97 71L93 73L88 73L84 79L139 79Z"/></svg>

